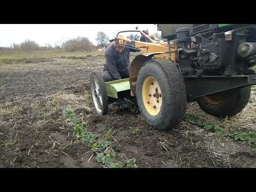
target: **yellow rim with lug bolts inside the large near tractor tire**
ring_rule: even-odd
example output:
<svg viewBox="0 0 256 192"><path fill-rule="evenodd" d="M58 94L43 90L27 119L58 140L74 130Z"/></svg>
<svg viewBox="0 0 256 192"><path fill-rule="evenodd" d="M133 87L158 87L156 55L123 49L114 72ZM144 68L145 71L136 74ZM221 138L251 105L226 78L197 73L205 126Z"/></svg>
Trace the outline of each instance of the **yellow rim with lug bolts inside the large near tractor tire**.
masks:
<svg viewBox="0 0 256 192"><path fill-rule="evenodd" d="M142 84L142 101L148 113L152 116L159 114L162 107L161 89L154 77L146 77Z"/></svg>

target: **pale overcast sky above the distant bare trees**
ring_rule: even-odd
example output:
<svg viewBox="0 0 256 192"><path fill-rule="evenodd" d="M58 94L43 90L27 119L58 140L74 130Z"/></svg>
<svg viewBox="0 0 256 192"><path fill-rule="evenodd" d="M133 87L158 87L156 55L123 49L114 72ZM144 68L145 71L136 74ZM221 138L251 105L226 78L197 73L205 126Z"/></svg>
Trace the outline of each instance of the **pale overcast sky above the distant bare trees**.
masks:
<svg viewBox="0 0 256 192"><path fill-rule="evenodd" d="M21 43L25 39L35 41L41 46L50 43L60 45L64 39L87 37L97 45L95 38L98 31L103 31L113 39L118 31L148 29L150 34L157 32L154 24L0 24L0 46ZM159 31L158 31L159 33Z"/></svg>

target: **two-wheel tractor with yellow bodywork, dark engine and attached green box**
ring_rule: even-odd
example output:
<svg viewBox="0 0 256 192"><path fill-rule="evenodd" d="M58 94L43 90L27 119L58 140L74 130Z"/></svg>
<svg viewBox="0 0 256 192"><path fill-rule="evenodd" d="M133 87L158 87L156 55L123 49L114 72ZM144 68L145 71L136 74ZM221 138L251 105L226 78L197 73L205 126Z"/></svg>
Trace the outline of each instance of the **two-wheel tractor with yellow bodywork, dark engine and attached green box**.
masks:
<svg viewBox="0 0 256 192"><path fill-rule="evenodd" d="M137 98L145 121L159 130L177 126L185 114L185 103L190 101L197 101L206 113L216 117L234 116L247 105L250 86L256 84L256 73L250 69L256 64L256 25L188 26L174 33L173 26L158 25L167 42L135 41L135 47L144 53L131 62L130 77L104 83L109 98L118 99L123 97L120 93L130 90L129 97ZM124 32L143 34L140 30L119 33ZM150 82L148 77L161 85L158 89L163 93L145 85ZM155 84L152 80L151 85Z"/></svg>

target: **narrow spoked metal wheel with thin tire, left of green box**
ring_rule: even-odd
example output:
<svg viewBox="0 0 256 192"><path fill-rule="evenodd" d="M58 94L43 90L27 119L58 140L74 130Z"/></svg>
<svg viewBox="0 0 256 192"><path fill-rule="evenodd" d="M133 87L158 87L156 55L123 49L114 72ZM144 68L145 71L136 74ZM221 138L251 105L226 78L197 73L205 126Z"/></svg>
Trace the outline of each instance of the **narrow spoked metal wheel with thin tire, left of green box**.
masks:
<svg viewBox="0 0 256 192"><path fill-rule="evenodd" d="M91 75L90 87L94 108L99 115L106 115L108 112L107 90L100 74Z"/></svg>

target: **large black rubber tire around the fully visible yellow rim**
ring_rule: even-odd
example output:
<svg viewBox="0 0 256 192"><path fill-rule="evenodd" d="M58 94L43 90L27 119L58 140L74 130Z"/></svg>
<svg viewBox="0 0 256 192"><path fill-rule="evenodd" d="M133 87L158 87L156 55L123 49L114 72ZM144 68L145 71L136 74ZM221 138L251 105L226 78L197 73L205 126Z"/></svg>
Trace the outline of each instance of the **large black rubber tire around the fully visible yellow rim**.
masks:
<svg viewBox="0 0 256 192"><path fill-rule="evenodd" d="M148 113L142 101L142 84L153 76L162 92L162 107L158 115ZM187 108L186 85L177 66L165 59L150 59L140 69L136 85L137 103L145 121L161 131L171 130L182 121Z"/></svg>

